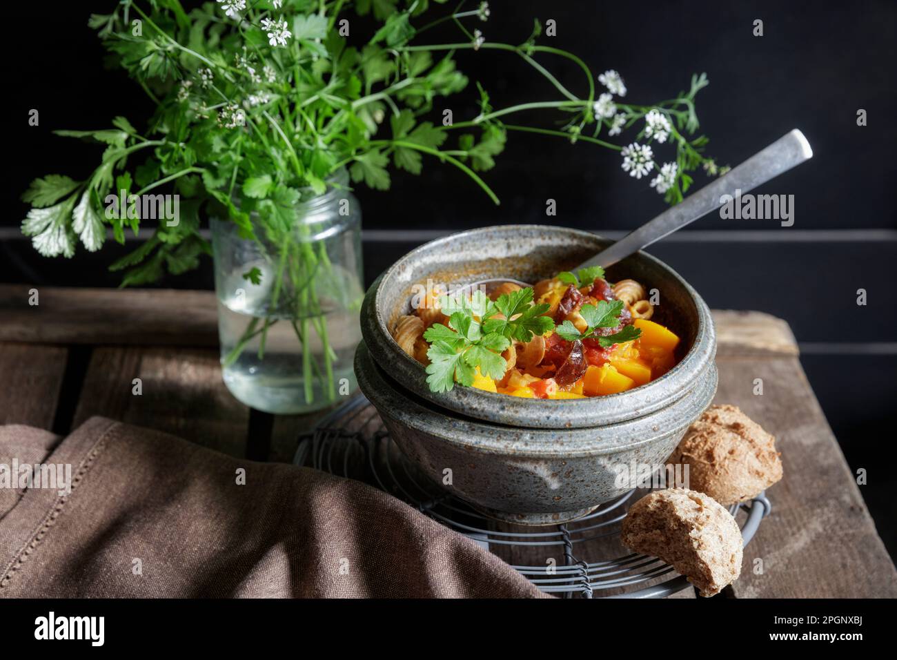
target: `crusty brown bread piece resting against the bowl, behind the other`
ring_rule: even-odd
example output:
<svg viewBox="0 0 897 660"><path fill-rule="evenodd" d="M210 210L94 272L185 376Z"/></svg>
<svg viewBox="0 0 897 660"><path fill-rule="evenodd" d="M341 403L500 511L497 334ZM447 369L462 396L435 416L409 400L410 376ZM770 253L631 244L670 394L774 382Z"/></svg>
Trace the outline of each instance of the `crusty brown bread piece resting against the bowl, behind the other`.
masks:
<svg viewBox="0 0 897 660"><path fill-rule="evenodd" d="M782 478L775 438L736 406L710 406L669 463L688 465L688 487L723 506L745 502Z"/></svg>

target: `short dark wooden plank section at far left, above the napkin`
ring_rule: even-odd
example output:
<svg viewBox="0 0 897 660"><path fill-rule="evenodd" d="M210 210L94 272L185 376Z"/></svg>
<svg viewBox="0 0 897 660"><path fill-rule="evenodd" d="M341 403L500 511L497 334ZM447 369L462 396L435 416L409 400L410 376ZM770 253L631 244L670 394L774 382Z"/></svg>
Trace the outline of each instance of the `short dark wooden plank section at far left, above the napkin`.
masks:
<svg viewBox="0 0 897 660"><path fill-rule="evenodd" d="M0 343L0 424L52 429L67 356L63 347Z"/></svg>

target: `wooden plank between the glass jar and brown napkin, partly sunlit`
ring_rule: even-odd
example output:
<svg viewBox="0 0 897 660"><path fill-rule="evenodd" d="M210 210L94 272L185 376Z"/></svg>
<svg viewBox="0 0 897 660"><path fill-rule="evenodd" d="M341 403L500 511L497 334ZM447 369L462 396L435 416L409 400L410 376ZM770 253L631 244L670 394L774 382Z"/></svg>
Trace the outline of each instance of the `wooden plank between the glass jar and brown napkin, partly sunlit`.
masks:
<svg viewBox="0 0 897 660"><path fill-rule="evenodd" d="M133 383L141 379L142 394ZM154 428L243 457L249 409L222 382L218 353L199 348L96 348L75 426L93 415Z"/></svg>

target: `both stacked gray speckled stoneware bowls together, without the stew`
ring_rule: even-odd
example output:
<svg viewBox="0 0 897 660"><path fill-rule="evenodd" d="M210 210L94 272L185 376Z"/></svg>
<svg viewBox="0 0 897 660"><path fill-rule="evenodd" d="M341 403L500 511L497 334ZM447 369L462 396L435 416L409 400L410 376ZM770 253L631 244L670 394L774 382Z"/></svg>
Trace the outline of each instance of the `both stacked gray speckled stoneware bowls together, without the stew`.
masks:
<svg viewBox="0 0 897 660"><path fill-rule="evenodd" d="M483 513L521 524L576 519L622 495L615 467L662 463L717 388L716 336L701 297L662 262L639 253L608 271L658 288L656 320L682 342L679 364L658 380L611 396L527 400L456 387L430 392L422 365L389 334L410 311L414 284L488 277L536 282L608 244L586 232L541 225L488 227L409 252L370 287L355 355L361 391L402 451L437 484Z"/></svg>

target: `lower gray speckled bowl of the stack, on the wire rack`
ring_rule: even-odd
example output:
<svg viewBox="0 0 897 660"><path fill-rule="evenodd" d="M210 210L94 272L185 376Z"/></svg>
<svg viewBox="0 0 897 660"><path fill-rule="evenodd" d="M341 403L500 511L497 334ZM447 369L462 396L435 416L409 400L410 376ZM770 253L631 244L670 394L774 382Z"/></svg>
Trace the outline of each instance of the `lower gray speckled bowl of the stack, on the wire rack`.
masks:
<svg viewBox="0 0 897 660"><path fill-rule="evenodd" d="M466 418L416 397L384 374L364 343L355 374L390 436L434 483L485 515L518 524L568 522L623 495L631 486L618 483L614 469L663 463L717 390L710 365L683 397L649 415L605 427L536 429Z"/></svg>

